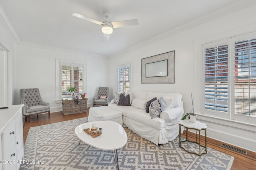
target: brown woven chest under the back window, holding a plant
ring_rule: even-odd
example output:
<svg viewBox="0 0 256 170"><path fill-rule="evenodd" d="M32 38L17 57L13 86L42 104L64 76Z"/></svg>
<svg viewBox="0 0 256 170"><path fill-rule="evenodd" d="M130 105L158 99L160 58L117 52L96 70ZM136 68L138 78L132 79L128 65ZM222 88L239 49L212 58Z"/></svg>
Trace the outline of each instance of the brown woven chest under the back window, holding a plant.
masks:
<svg viewBox="0 0 256 170"><path fill-rule="evenodd" d="M76 104L73 99L62 99L63 115L71 115L76 113L83 113L87 111L87 98L79 99L80 104Z"/></svg>

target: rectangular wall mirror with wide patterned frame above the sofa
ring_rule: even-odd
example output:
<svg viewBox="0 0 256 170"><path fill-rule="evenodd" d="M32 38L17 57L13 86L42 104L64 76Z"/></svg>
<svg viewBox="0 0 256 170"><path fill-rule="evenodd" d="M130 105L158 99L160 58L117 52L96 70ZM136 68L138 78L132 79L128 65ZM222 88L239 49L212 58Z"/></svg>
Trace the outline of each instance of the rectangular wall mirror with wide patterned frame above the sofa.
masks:
<svg viewBox="0 0 256 170"><path fill-rule="evenodd" d="M174 83L174 52L141 59L141 83Z"/></svg>

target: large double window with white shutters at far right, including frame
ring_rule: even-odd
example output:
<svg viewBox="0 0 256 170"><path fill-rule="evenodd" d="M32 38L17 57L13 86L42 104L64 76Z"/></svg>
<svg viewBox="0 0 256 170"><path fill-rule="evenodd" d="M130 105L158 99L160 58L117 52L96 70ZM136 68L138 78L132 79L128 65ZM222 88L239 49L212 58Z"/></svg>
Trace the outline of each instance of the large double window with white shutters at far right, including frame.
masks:
<svg viewBox="0 0 256 170"><path fill-rule="evenodd" d="M256 38L248 37L203 45L204 113L256 122Z"/></svg>

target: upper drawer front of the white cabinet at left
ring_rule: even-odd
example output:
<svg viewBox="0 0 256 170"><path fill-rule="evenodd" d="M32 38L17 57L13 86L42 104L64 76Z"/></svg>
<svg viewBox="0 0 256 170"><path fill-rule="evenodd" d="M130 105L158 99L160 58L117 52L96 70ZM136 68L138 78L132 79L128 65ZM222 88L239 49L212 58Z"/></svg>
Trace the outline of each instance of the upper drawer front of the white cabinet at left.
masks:
<svg viewBox="0 0 256 170"><path fill-rule="evenodd" d="M12 134L14 132L14 134ZM4 144L4 153L8 150L10 143L12 143L13 139L15 138L15 121L12 119L4 128L2 144Z"/></svg>

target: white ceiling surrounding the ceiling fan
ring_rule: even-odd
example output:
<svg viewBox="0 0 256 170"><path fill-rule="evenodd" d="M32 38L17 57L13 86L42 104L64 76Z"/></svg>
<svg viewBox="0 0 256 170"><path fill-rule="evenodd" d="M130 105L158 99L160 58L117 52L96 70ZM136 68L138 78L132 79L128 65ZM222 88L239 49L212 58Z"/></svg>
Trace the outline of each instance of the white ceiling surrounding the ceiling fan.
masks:
<svg viewBox="0 0 256 170"><path fill-rule="evenodd" d="M199 20L239 10L250 0L0 0L20 42L112 55L160 34ZM115 28L103 40L101 26L72 16L77 12L100 22L138 19L138 26ZM208 17L208 19L207 19Z"/></svg>

